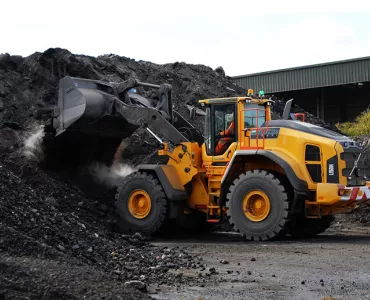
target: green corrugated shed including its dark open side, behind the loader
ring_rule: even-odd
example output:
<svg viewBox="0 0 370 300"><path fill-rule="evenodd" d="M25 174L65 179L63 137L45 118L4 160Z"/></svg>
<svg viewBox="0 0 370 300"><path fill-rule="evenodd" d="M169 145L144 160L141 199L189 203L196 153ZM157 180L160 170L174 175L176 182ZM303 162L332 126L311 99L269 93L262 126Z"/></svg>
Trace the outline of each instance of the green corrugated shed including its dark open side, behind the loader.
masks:
<svg viewBox="0 0 370 300"><path fill-rule="evenodd" d="M327 122L351 121L370 106L370 56L233 77L236 84L294 98Z"/></svg>

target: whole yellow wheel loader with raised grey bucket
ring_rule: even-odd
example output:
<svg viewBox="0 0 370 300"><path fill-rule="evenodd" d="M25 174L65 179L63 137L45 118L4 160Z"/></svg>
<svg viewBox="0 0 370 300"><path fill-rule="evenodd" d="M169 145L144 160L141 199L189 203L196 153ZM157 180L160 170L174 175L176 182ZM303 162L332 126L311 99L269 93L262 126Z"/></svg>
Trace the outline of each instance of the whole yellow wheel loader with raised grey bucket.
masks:
<svg viewBox="0 0 370 300"><path fill-rule="evenodd" d="M158 89L157 104L132 92ZM123 232L154 234L169 218L201 229L229 220L247 240L314 236L334 215L370 200L361 145L298 120L271 120L273 101L254 95L200 100L204 135L173 110L171 86L130 79L60 81L52 127L118 142L139 127L160 143L166 164L147 164L117 189Z"/></svg>

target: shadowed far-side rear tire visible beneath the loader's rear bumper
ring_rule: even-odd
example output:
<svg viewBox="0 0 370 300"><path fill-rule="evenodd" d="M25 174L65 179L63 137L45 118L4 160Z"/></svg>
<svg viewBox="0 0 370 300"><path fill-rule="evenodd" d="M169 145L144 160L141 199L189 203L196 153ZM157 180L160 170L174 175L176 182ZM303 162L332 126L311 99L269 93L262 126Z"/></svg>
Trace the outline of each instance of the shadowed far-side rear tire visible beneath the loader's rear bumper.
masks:
<svg viewBox="0 0 370 300"><path fill-rule="evenodd" d="M328 229L335 220L334 216L324 216L320 219L296 217L289 225L288 233L293 237L314 237Z"/></svg>

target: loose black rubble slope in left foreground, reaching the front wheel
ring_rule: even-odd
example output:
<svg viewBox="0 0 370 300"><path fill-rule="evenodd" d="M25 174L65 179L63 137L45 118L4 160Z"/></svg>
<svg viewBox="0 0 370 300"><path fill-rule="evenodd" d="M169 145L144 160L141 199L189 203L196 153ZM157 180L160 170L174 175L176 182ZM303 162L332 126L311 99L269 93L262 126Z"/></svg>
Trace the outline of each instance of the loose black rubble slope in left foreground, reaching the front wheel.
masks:
<svg viewBox="0 0 370 300"><path fill-rule="evenodd" d="M171 270L200 266L178 247L154 247L140 234L115 233L110 207L32 163L21 168L24 179L0 165L0 294L5 299L38 299L43 293L76 299L109 299L123 293L127 296L122 299L138 299L124 283L175 285L186 279ZM40 272L30 266L38 266ZM71 284L64 275L65 286L58 286L58 275L66 269L76 281ZM94 281L107 286L90 290Z"/></svg>

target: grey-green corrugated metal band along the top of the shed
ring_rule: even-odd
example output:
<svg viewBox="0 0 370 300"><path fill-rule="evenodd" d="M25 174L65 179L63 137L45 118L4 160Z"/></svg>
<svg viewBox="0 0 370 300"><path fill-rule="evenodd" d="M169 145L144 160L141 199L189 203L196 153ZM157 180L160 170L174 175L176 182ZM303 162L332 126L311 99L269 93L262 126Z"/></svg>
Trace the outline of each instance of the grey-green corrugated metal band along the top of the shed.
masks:
<svg viewBox="0 0 370 300"><path fill-rule="evenodd" d="M370 57L302 68L236 76L234 82L266 93L370 81Z"/></svg>

